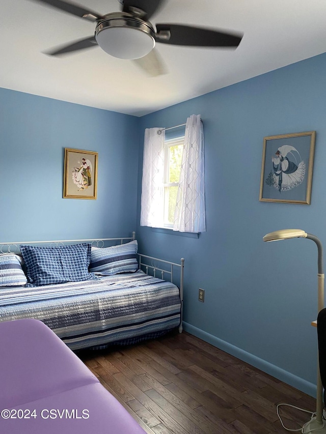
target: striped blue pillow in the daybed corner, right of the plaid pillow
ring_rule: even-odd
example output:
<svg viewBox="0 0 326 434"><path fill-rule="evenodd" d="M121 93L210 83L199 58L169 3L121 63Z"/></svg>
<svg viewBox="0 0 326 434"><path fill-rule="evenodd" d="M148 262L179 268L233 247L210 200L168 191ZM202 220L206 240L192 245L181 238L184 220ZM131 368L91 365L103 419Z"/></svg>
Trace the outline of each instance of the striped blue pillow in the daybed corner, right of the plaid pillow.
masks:
<svg viewBox="0 0 326 434"><path fill-rule="evenodd" d="M119 246L92 247L89 270L101 276L130 273L138 270L136 240Z"/></svg>

